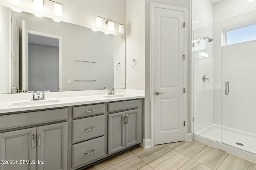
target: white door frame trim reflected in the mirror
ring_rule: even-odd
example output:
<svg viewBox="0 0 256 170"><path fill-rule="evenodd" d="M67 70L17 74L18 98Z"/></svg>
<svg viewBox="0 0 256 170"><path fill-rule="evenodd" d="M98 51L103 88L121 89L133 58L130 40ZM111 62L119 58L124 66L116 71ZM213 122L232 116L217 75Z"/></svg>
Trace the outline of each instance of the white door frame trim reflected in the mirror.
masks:
<svg viewBox="0 0 256 170"><path fill-rule="evenodd" d="M62 91L62 37L58 35L32 31L28 29L29 34L40 35L44 37L55 38L59 40L59 92Z"/></svg>

